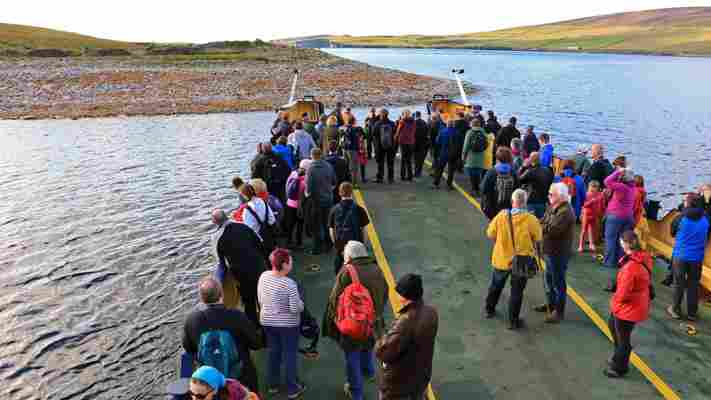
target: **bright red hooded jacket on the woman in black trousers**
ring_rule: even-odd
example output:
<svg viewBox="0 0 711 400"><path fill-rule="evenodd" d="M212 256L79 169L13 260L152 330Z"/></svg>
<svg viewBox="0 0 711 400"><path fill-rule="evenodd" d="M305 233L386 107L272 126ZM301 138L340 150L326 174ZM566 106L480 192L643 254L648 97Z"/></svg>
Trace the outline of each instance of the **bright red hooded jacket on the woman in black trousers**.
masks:
<svg viewBox="0 0 711 400"><path fill-rule="evenodd" d="M644 321L649 316L651 301L649 271L652 269L652 257L647 252L636 251L622 257L620 265L617 290L610 299L610 311L612 315L624 321Z"/></svg>

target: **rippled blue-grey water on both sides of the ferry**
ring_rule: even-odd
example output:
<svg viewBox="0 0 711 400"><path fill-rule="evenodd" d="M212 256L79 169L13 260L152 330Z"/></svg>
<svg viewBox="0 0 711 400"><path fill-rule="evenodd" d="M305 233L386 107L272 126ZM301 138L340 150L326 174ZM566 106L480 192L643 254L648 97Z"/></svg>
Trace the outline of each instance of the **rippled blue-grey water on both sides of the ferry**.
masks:
<svg viewBox="0 0 711 400"><path fill-rule="evenodd" d="M550 130L563 152L608 144L659 195L711 180L709 59L334 53L439 76L465 68L486 109ZM230 179L246 174L272 117L0 121L0 396L161 389L213 265L209 211L233 205Z"/></svg>

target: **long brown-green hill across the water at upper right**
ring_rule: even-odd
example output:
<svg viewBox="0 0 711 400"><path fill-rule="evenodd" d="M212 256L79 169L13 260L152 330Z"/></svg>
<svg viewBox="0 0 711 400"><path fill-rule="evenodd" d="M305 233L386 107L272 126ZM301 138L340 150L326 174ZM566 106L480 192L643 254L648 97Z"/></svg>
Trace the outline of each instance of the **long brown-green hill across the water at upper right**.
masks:
<svg viewBox="0 0 711 400"><path fill-rule="evenodd" d="M444 36L318 36L336 47L491 48L711 55L711 7L627 12ZM298 38L290 44L300 45Z"/></svg>

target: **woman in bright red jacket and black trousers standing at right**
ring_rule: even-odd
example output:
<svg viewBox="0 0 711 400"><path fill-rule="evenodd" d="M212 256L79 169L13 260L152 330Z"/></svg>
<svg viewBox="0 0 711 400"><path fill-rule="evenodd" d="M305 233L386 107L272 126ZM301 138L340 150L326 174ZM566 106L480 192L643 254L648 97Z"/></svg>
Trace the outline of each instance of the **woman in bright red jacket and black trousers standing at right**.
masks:
<svg viewBox="0 0 711 400"><path fill-rule="evenodd" d="M604 370L610 378L622 378L629 371L632 331L649 316L652 300L652 257L642 251L639 239L632 231L622 234L621 243L625 256L620 259L617 290L610 299L607 322L615 349L608 360L608 368Z"/></svg>

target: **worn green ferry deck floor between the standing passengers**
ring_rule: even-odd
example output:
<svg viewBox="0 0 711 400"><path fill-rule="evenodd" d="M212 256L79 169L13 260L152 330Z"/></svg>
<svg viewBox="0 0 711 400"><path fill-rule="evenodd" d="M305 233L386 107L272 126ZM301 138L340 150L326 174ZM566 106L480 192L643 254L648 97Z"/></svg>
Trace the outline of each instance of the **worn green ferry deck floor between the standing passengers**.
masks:
<svg viewBox="0 0 711 400"><path fill-rule="evenodd" d="M430 183L428 176L415 183L369 183L362 193L396 279L407 272L422 274L425 299L439 310L432 379L437 399L662 398L635 368L622 380L602 374L612 344L570 298L560 325L544 324L541 314L530 311L544 301L540 275L529 281L524 294L523 330L506 329L508 288L497 308L499 316L484 319L492 268L486 218L459 192L432 190ZM462 182L462 187L467 186ZM332 260L333 254L311 257L295 252L293 276L304 286L307 305L319 321L333 283ZM320 264L321 271L305 272L312 263ZM664 265L658 263L655 281L663 274ZM568 285L605 321L609 294L602 286L608 276L609 270L589 254L576 255L568 270ZM711 398L711 308L700 307L699 333L690 337L664 312L671 289L656 288L650 319L633 333L634 350L680 398ZM389 325L393 318L389 307L386 318ZM325 338L319 350L316 361L300 357L300 378L308 385L304 398L345 398L342 352ZM265 358L264 352L257 356L262 385ZM366 398L377 399L375 384L366 385Z"/></svg>

